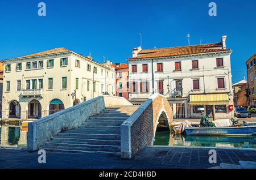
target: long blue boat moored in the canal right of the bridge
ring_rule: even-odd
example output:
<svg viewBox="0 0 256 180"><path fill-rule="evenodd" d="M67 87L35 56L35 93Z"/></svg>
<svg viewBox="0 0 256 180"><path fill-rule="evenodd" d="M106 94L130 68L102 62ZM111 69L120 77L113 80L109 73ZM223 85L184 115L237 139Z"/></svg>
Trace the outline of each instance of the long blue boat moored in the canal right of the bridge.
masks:
<svg viewBox="0 0 256 180"><path fill-rule="evenodd" d="M187 127L185 134L193 136L250 136L256 135L255 124L231 127Z"/></svg>

